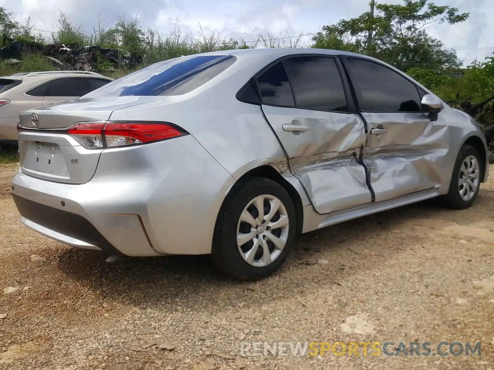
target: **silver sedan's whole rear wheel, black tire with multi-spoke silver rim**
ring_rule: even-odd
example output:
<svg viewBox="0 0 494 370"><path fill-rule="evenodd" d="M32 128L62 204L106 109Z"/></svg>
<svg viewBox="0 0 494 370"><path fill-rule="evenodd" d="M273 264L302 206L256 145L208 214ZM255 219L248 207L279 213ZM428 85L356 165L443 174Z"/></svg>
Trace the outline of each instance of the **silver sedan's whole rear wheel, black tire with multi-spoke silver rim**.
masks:
<svg viewBox="0 0 494 370"><path fill-rule="evenodd" d="M236 186L221 207L211 258L223 273L258 280L287 259L295 238L295 209L283 186L252 178Z"/></svg>

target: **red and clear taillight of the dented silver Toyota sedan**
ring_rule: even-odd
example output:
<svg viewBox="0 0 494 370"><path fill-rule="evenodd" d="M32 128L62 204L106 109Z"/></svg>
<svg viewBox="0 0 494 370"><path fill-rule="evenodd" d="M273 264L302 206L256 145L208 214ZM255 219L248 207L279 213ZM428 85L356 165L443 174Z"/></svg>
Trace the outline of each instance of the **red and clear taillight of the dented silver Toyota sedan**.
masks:
<svg viewBox="0 0 494 370"><path fill-rule="evenodd" d="M91 149L148 144L189 134L172 123L151 121L78 122L68 133Z"/></svg>

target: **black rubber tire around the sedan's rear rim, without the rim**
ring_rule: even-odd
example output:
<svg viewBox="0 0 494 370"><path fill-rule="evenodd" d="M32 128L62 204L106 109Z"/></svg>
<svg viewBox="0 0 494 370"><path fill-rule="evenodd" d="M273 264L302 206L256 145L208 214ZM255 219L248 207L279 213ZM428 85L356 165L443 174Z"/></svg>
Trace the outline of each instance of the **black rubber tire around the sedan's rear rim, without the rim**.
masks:
<svg viewBox="0 0 494 370"><path fill-rule="evenodd" d="M237 246L237 225L247 204L255 197L269 194L285 206L288 216L288 236L281 254L270 264L253 266L242 257ZM216 220L211 259L224 274L241 280L260 280L273 274L285 262L293 247L296 214L288 192L280 184L265 178L250 178L236 185L221 206Z"/></svg>

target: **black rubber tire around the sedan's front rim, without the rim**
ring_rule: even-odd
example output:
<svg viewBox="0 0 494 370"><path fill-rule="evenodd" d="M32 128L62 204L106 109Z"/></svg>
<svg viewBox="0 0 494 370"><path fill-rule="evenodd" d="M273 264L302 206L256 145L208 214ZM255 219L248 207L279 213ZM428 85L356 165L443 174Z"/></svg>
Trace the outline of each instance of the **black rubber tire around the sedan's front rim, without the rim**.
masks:
<svg viewBox="0 0 494 370"><path fill-rule="evenodd" d="M470 200L465 201L461 198L458 190L458 180L459 180L458 178L459 178L460 167L463 161L470 155L475 156L475 158L479 163L479 186L477 186L474 196ZM483 171L484 168L482 165L482 160L480 158L477 149L475 149L470 145L464 145L463 147L461 147L458 156L456 157L456 162L454 163L453 174L451 176L450 189L448 191L448 194L445 194L440 197L440 201L442 205L447 208L458 209L458 210L466 209L470 207L477 198L477 195L479 194L480 179L483 176Z"/></svg>

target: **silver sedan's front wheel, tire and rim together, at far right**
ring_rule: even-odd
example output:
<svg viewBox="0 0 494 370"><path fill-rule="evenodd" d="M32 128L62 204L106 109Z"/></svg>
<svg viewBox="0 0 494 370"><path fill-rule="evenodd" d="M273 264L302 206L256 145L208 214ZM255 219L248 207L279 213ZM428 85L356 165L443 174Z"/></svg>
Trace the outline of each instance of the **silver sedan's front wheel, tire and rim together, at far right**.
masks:
<svg viewBox="0 0 494 370"><path fill-rule="evenodd" d="M479 193L481 171L479 152L464 145L456 157L449 192L441 199L443 204L452 209L470 207Z"/></svg>

